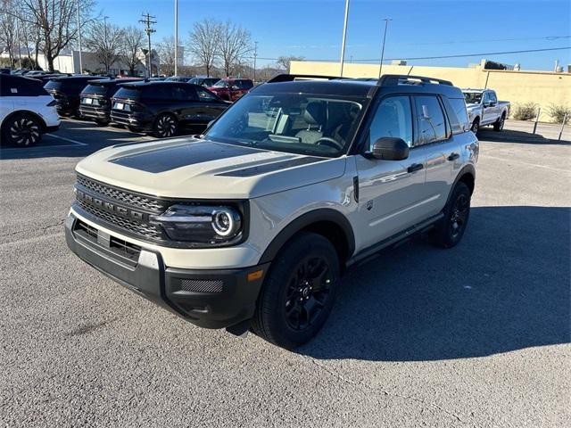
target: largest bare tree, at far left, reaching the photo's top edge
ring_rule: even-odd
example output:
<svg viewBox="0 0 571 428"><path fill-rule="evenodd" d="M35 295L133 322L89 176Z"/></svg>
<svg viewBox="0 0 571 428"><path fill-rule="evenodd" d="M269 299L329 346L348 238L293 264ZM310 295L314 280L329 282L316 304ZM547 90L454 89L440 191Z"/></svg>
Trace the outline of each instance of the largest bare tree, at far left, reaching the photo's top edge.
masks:
<svg viewBox="0 0 571 428"><path fill-rule="evenodd" d="M22 21L37 26L40 33L39 49L46 56L47 68L54 71L54 58L75 39L77 26L76 0L19 0L23 9ZM94 0L79 2L82 25L88 21Z"/></svg>

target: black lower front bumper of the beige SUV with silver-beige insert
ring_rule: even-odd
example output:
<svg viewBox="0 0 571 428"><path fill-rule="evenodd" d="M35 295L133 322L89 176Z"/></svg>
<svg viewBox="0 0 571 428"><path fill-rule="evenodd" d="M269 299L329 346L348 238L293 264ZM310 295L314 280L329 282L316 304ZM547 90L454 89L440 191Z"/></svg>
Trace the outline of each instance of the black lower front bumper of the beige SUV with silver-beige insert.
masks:
<svg viewBox="0 0 571 428"><path fill-rule="evenodd" d="M269 263L216 270L169 268L158 251L140 248L137 256L124 257L117 240L110 241L102 231L83 234L78 222L73 213L65 222L70 250L129 290L205 328L230 327L252 318ZM259 271L252 279L250 274Z"/></svg>

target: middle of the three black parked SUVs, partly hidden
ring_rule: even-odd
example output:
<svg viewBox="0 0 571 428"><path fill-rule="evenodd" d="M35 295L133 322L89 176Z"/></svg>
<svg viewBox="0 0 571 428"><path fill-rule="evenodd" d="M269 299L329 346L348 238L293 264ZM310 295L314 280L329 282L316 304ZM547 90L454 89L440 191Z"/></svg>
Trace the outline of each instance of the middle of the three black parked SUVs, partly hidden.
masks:
<svg viewBox="0 0 571 428"><path fill-rule="evenodd" d="M94 120L97 125L111 122L111 99L119 90L120 84L136 82L143 78L103 78L89 80L79 94L79 112L86 119Z"/></svg>

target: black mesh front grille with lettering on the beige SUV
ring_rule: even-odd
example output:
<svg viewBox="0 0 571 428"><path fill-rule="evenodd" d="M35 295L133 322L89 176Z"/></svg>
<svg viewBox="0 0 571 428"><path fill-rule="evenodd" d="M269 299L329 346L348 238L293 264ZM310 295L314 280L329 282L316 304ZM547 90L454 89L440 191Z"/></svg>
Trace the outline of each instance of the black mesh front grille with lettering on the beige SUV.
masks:
<svg viewBox="0 0 571 428"><path fill-rule="evenodd" d="M79 209L93 216L95 221L101 220L146 240L167 238L162 227L153 224L149 217L167 210L169 202L105 185L79 174L76 195Z"/></svg>

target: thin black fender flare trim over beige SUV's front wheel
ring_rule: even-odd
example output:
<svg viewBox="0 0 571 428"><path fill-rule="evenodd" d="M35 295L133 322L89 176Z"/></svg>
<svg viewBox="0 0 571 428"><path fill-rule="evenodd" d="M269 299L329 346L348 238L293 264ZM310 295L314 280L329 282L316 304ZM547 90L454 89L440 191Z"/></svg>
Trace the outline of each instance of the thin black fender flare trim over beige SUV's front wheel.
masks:
<svg viewBox="0 0 571 428"><path fill-rule="evenodd" d="M302 231L304 228L311 226L314 223L321 221L328 221L335 223L343 230L345 240L347 241L347 256L351 257L355 251L355 235L349 220L337 210L330 208L320 208L302 214L300 217L295 218L290 224L285 226L269 243L268 248L261 255L260 264L267 263L276 258L277 253L283 248L295 234Z"/></svg>

